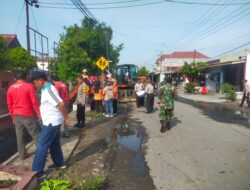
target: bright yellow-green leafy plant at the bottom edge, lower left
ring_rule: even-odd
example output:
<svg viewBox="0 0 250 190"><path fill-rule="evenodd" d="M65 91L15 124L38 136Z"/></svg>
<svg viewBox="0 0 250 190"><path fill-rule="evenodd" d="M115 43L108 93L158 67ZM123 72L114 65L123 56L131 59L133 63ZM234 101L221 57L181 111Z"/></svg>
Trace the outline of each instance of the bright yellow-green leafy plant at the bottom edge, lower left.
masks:
<svg viewBox="0 0 250 190"><path fill-rule="evenodd" d="M69 180L51 179L41 183L40 190L71 190L72 183Z"/></svg>

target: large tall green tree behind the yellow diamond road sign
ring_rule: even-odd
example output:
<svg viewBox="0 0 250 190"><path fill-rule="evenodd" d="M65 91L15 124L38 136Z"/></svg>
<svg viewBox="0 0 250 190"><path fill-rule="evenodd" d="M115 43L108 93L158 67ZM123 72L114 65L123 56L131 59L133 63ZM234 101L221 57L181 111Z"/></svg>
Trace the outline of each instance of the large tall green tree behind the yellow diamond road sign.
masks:
<svg viewBox="0 0 250 190"><path fill-rule="evenodd" d="M119 61L120 51L123 45L117 47L112 45L112 29L104 23L98 23L93 19L85 18L81 26L73 25L65 28L65 34L61 35L60 47L58 49L57 74L65 80L74 80L82 71L87 69L89 75L101 74L101 70L96 67L96 61L101 57L106 57L106 34L108 34L108 52L110 70L115 70ZM52 67L55 65L52 64Z"/></svg>

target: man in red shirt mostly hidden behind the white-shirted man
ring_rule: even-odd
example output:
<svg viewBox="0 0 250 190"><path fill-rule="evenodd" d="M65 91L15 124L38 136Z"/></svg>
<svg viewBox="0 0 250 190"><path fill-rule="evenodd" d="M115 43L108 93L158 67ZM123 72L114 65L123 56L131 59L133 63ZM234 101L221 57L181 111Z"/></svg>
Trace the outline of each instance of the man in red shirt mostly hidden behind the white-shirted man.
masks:
<svg viewBox="0 0 250 190"><path fill-rule="evenodd" d="M58 76L54 75L51 77L51 80L58 91L60 98L63 100L64 106L68 113L71 112L70 98L69 98L69 88L66 84L61 82ZM66 124L63 124L64 134L63 137L69 138L69 127Z"/></svg>

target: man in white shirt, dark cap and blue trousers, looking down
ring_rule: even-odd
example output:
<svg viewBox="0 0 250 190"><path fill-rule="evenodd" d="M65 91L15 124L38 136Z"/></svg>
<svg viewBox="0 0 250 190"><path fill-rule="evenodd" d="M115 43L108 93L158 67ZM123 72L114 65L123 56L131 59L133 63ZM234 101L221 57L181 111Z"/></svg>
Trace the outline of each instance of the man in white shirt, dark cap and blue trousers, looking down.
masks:
<svg viewBox="0 0 250 190"><path fill-rule="evenodd" d="M48 82L46 74L35 72L32 81L37 89L41 89L40 112L43 122L32 170L37 172L38 178L44 178L48 150L54 163L49 168L66 168L60 144L60 127L63 122L68 125L68 117L63 100L56 88Z"/></svg>

